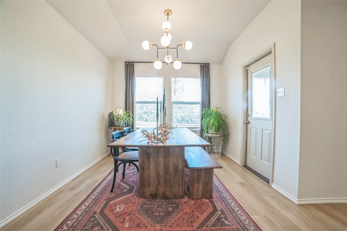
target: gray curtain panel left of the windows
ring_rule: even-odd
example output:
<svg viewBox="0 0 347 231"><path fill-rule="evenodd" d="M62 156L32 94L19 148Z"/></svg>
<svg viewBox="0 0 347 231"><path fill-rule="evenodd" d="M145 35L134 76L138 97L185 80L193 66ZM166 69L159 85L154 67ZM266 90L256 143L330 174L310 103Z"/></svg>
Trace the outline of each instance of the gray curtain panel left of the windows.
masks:
<svg viewBox="0 0 347 231"><path fill-rule="evenodd" d="M134 63L125 63L124 110L135 113L135 70ZM134 123L130 125L134 129Z"/></svg>

